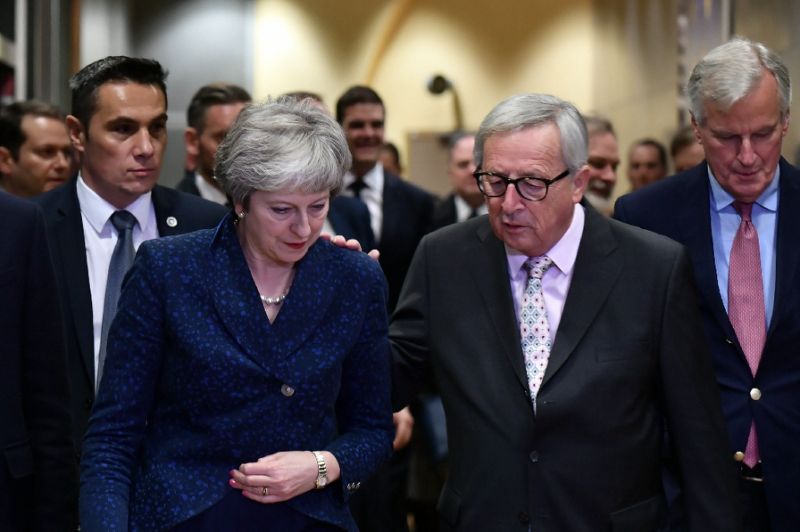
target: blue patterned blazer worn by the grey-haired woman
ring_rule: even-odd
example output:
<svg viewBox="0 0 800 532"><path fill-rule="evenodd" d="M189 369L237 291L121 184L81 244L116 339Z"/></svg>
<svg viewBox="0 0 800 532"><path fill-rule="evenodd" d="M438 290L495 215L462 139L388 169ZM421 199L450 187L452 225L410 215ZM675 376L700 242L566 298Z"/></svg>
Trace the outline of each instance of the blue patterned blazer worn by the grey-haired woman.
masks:
<svg viewBox="0 0 800 532"><path fill-rule="evenodd" d="M142 244L84 442L82 529L170 528L239 464L324 449L340 480L285 504L356 530L349 495L391 453L385 308L378 264L320 240L270 324L230 215Z"/></svg>

